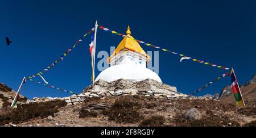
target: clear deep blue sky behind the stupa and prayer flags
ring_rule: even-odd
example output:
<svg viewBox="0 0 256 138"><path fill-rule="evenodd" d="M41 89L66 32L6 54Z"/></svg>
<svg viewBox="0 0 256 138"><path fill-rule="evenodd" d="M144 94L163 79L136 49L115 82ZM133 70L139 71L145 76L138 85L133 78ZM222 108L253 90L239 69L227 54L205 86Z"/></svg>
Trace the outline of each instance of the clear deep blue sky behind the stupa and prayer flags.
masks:
<svg viewBox="0 0 256 138"><path fill-rule="evenodd" d="M24 76L40 72L63 55L97 19L102 26L121 33L129 24L139 40L233 66L238 81L245 83L256 73L255 7L255 1L1 1L0 82L17 90ZM6 36L13 41L10 46L5 43ZM99 30L97 50L110 52L110 45L121 40ZM44 74L46 80L76 93L90 85L89 43L90 36ZM179 62L178 56L167 52L159 54L159 76L181 93L195 91L226 72L191 60ZM225 85L230 85L230 78L213 83L198 95L220 93ZM21 94L28 98L70 95L30 81Z"/></svg>

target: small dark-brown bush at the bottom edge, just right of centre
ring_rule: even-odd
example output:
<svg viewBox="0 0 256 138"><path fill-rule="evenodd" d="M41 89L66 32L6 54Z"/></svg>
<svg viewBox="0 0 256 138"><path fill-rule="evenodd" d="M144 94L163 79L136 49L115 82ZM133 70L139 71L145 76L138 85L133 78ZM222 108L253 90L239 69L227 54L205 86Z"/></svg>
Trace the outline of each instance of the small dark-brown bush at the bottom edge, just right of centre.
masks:
<svg viewBox="0 0 256 138"><path fill-rule="evenodd" d="M163 116L151 116L151 118L144 119L139 127L162 127L165 123Z"/></svg>

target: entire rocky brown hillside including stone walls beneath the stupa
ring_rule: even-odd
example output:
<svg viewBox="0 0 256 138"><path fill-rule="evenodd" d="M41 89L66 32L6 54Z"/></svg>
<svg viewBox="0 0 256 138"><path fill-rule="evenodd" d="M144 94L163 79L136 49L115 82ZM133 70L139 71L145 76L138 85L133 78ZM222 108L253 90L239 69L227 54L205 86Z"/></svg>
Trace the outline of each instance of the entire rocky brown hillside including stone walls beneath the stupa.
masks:
<svg viewBox="0 0 256 138"><path fill-rule="evenodd" d="M255 84L241 90L245 107L228 95L188 97L152 80L98 81L96 91L89 86L71 97L20 102L2 112L0 126L255 126Z"/></svg>

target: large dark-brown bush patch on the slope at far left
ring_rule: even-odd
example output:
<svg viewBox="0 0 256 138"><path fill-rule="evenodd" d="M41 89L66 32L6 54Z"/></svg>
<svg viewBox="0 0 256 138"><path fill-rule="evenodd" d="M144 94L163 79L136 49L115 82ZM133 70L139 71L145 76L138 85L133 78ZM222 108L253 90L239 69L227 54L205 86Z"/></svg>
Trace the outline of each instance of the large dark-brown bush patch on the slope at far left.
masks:
<svg viewBox="0 0 256 138"><path fill-rule="evenodd" d="M59 108L66 105L67 103L61 100L18 105L17 108L10 110L6 114L0 115L0 126L10 122L18 124L33 118L46 118L47 116L58 112Z"/></svg>

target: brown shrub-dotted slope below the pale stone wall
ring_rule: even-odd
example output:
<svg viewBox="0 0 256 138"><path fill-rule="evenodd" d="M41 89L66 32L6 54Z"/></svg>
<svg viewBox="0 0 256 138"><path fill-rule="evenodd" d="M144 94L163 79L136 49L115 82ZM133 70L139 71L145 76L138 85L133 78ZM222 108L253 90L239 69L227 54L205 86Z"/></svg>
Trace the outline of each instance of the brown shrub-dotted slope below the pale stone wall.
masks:
<svg viewBox="0 0 256 138"><path fill-rule="evenodd" d="M247 112L249 111L250 112ZM255 107L217 100L159 99L144 95L88 98L44 118L18 126L245 126L256 120ZM1 120L1 119L0 119ZM11 126L13 123L4 126Z"/></svg>

